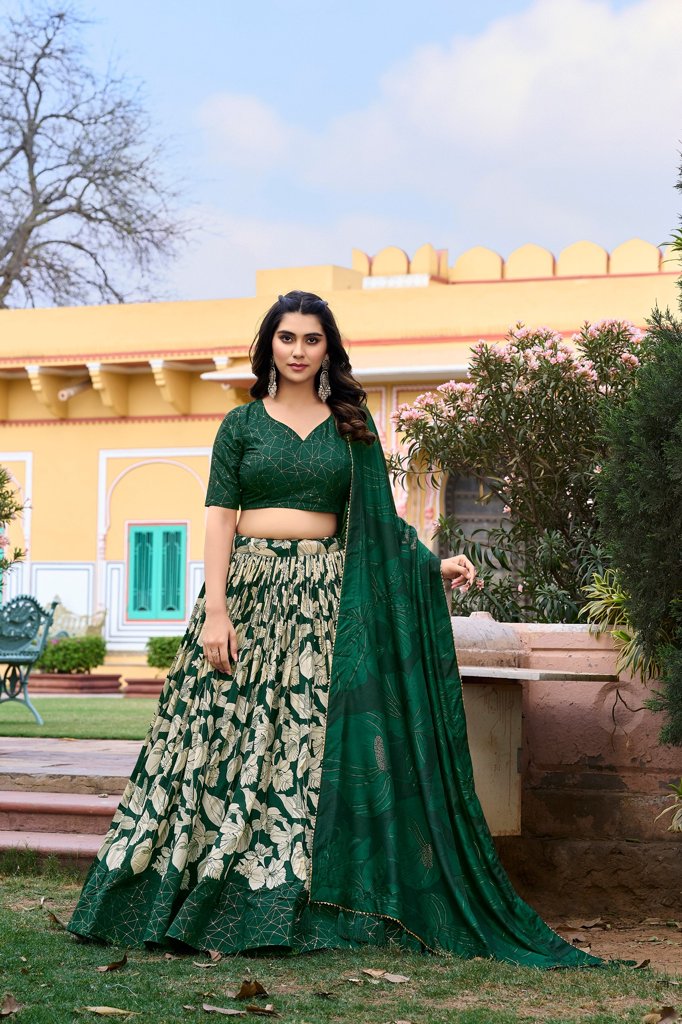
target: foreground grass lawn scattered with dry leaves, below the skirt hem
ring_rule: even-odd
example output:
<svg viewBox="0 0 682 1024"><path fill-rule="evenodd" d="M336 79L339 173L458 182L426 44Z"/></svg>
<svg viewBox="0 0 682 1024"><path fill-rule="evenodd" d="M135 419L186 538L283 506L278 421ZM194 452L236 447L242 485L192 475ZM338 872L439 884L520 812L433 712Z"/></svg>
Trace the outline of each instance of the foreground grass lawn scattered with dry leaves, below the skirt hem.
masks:
<svg viewBox="0 0 682 1024"><path fill-rule="evenodd" d="M132 1024L191 1024L209 1018L203 1004L243 1010L233 994L245 978L257 979L268 992L247 1001L272 1004L283 1024L635 1024L654 1008L680 1001L673 980L649 970L539 971L393 948L228 956L210 968L196 966L208 963L201 953L168 959L159 951L130 950L121 970L99 973L123 950L76 942L46 910L68 919L79 877L50 861L38 873L30 857L5 858L0 870L0 989L25 1007L17 1022L94 1024L102 1018L82 1008L104 1006L131 1011ZM49 898L46 907L41 896ZM409 980L373 982L364 968ZM244 1019L256 1024L262 1018L249 1013Z"/></svg>

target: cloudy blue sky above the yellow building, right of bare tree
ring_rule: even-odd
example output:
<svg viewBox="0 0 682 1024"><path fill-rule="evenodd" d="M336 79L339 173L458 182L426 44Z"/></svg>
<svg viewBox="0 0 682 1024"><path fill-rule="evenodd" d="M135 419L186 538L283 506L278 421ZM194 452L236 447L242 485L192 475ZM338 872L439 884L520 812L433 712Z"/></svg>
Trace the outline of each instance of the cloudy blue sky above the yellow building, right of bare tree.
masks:
<svg viewBox="0 0 682 1024"><path fill-rule="evenodd" d="M79 6L173 137L194 231L169 297L353 246L659 244L682 208L680 0Z"/></svg>

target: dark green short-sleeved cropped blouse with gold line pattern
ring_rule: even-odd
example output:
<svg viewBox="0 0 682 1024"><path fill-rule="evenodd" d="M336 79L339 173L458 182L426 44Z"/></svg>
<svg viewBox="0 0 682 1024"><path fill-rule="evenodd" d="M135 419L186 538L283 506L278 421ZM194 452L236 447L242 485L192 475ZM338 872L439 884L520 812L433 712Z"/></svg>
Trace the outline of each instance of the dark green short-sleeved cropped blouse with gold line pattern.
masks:
<svg viewBox="0 0 682 1024"><path fill-rule="evenodd" d="M343 512L350 452L334 416L301 437L260 399L232 409L218 428L206 505Z"/></svg>

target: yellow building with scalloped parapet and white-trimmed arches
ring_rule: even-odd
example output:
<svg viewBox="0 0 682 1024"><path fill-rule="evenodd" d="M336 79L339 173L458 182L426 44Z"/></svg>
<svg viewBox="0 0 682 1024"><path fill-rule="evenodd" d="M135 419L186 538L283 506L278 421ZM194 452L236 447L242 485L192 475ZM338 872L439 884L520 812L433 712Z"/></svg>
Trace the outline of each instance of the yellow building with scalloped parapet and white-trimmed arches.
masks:
<svg viewBox="0 0 682 1024"><path fill-rule="evenodd" d="M637 240L610 254L578 243L556 259L531 245L506 261L476 248L453 265L427 245L412 259L388 248L354 252L351 267L262 270L251 298L3 310L0 463L27 502L10 540L29 551L3 599L105 608L111 650L182 632L203 579L211 444L248 400L249 345L280 293L329 301L391 449L391 411L463 377L480 337L518 322L568 336L603 317L642 327L654 304L676 305L678 273ZM446 489L408 498L400 511L428 540Z"/></svg>

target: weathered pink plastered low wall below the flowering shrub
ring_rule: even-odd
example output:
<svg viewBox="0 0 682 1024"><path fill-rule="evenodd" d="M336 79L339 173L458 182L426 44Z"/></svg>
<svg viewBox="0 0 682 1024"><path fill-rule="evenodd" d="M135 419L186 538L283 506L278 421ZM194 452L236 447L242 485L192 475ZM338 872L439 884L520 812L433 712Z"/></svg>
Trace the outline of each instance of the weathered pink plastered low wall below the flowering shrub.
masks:
<svg viewBox="0 0 682 1024"><path fill-rule="evenodd" d="M610 638L584 626L514 627L528 667L615 672ZM656 815L682 775L682 750L658 742L660 719L642 701L655 683L632 677L523 684L521 836L501 840L526 898L561 913L625 916L679 909L682 835Z"/></svg>

